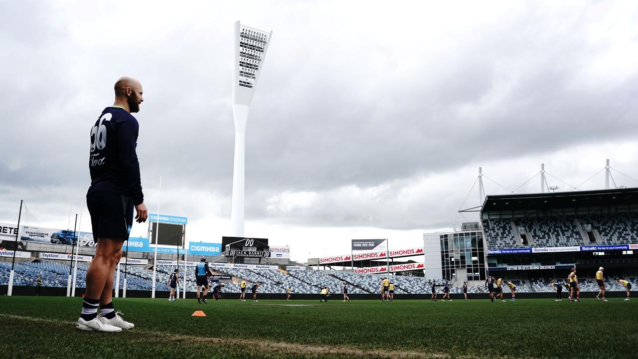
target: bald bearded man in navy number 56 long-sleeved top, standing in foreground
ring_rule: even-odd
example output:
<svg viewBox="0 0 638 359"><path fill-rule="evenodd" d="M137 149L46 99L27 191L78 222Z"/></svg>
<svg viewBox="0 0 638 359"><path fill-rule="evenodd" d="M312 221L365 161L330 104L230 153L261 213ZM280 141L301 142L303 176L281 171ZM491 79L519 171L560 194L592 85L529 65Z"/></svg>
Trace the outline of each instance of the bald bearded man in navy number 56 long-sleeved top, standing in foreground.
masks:
<svg viewBox="0 0 638 359"><path fill-rule="evenodd" d="M131 77L122 77L115 82L113 106L105 108L91 128L91 187L86 204L98 247L86 273L77 329L121 332L134 326L115 312L112 294L115 266L133 226L133 207L138 223L146 222L148 217L135 153L139 124L131 115L140 111L143 101L142 84ZM98 305L102 314L99 317Z"/></svg>

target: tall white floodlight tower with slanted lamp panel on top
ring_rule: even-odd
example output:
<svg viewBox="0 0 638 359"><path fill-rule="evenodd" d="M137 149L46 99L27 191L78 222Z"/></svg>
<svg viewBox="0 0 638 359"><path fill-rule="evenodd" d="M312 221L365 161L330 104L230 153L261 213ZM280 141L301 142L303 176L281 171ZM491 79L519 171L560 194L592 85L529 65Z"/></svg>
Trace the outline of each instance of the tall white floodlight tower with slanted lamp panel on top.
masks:
<svg viewBox="0 0 638 359"><path fill-rule="evenodd" d="M272 31L267 33L235 22L235 65L233 72L233 118L235 120L235 161L233 199L230 210L232 236L244 236L244 149L246 123L255 86L262 72Z"/></svg>

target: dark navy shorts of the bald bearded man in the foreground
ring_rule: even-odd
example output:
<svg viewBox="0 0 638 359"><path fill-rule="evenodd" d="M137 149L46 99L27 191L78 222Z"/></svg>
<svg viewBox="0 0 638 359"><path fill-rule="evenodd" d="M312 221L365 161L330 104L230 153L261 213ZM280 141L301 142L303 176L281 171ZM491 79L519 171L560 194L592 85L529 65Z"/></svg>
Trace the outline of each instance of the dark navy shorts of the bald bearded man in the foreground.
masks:
<svg viewBox="0 0 638 359"><path fill-rule="evenodd" d="M133 200L128 195L110 192L87 194L86 205L91 215L93 241L98 238L128 239L133 226Z"/></svg>

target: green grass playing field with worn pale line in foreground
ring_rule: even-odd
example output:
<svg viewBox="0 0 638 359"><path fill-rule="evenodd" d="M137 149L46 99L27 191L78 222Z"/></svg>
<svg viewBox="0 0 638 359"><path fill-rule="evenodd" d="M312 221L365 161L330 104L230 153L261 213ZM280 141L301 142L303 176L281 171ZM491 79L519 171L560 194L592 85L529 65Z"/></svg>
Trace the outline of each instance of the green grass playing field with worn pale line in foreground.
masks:
<svg viewBox="0 0 638 359"><path fill-rule="evenodd" d="M228 296L232 294L227 294ZM638 299L115 299L135 328L74 329L80 298L0 297L3 358L635 358ZM303 305L303 306L287 306ZM191 317L195 310L206 317Z"/></svg>

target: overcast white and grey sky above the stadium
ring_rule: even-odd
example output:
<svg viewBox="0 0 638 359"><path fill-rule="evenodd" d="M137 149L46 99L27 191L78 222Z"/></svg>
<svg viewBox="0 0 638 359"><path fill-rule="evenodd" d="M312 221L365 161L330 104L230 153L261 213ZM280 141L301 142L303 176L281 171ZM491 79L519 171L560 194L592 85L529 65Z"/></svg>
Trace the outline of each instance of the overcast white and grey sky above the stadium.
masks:
<svg viewBox="0 0 638 359"><path fill-rule="evenodd" d="M479 166L508 188L485 179L487 194L509 193L541 163L560 190L605 158L638 178L635 1L1 8L0 222L16 222L20 199L31 224L62 228L71 207L79 213L90 128L129 75L144 86L135 116L147 207L156 211L162 176L161 212L188 217L190 241L221 241L236 20L273 31L246 132L245 234L290 245L293 259L348 253L351 238L420 246L423 233L465 221L457 211ZM579 187L595 188L604 172ZM479 205L474 189L464 207ZM537 176L516 193L539 191Z"/></svg>

